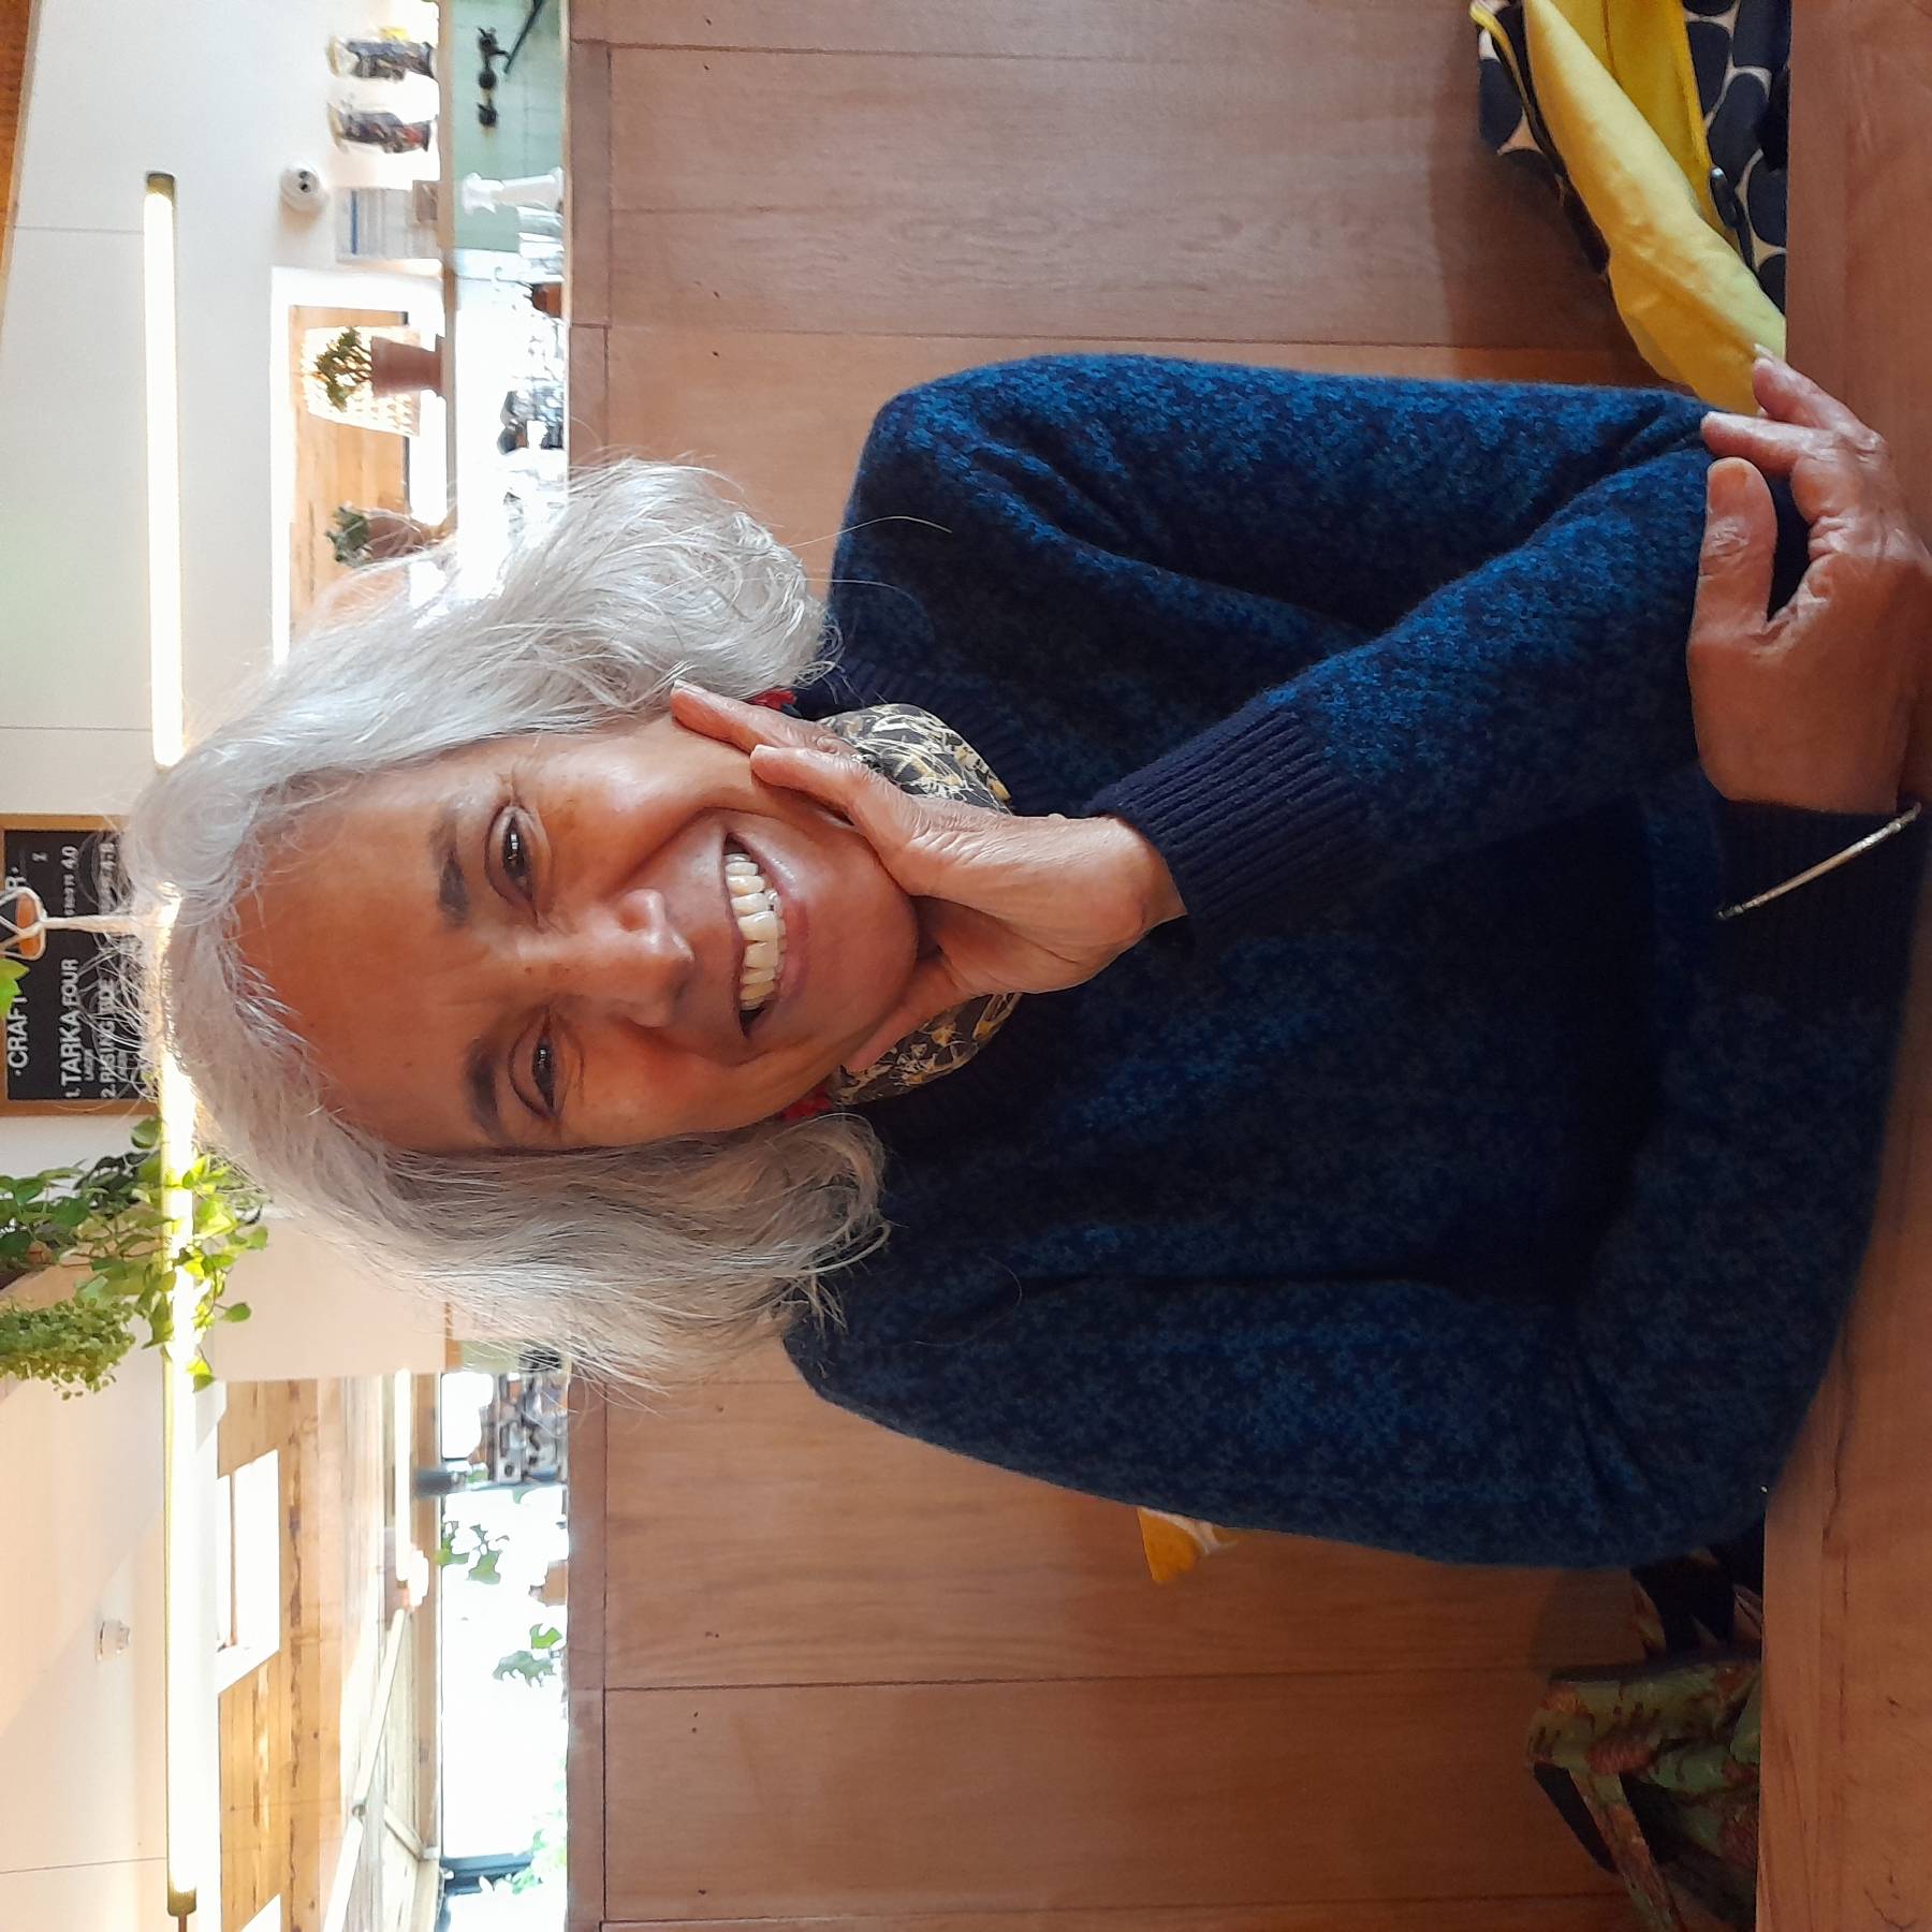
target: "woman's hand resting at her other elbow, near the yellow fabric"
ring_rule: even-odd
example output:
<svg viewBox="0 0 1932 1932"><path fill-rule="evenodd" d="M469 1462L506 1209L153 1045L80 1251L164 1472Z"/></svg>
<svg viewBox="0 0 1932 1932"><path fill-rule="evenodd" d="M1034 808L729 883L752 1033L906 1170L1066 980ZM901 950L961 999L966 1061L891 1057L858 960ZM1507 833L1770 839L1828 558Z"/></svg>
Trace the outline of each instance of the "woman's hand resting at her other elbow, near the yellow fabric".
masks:
<svg viewBox="0 0 1932 1932"><path fill-rule="evenodd" d="M1690 703L1698 755L1727 798L1812 811L1893 811L1932 782L1932 554L1884 440L1781 361L1754 375L1764 417L1710 415ZM1766 616L1789 477L1810 568Z"/></svg>

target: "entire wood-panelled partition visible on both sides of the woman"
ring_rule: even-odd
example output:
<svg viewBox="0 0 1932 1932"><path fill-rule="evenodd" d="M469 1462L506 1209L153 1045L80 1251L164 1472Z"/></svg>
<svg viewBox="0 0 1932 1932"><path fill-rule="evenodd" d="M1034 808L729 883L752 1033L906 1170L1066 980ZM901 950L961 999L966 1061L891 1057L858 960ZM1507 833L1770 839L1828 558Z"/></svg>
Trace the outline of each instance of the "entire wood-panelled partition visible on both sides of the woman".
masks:
<svg viewBox="0 0 1932 1932"><path fill-rule="evenodd" d="M1036 350L1646 381L1474 137L1447 0L576 0L572 437L823 574L871 413ZM1252 1538L902 1441L782 1360L572 1437L576 1928L1611 1932L1522 1768L1615 1577Z"/></svg>

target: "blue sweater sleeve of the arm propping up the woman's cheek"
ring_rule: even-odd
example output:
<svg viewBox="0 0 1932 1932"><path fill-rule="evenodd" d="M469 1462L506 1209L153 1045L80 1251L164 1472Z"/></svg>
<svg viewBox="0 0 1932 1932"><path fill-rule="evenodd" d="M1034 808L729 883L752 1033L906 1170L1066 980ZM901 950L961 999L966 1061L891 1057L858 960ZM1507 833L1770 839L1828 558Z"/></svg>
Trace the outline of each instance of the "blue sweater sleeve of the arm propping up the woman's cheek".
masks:
<svg viewBox="0 0 1932 1932"><path fill-rule="evenodd" d="M981 572L1132 638L1122 682L1219 690L1213 636L1273 626L1277 682L1084 802L1159 848L1213 945L1694 759L1700 415L1663 392L1043 357L889 406L854 510L943 524L962 611ZM906 554L943 568L937 539ZM1014 701L1059 663L1003 667Z"/></svg>

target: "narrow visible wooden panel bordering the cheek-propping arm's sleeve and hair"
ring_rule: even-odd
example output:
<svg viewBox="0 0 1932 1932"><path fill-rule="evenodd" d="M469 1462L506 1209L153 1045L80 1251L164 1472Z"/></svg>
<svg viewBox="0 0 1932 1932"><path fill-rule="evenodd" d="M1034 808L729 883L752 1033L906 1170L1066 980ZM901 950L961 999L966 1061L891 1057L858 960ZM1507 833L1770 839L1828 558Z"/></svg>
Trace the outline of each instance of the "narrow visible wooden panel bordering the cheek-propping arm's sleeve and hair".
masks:
<svg viewBox="0 0 1932 1932"><path fill-rule="evenodd" d="M572 423L591 437L591 392L614 442L690 456L732 477L823 589L866 429L914 383L1016 355L1111 350L1354 375L1646 383L1629 348L1468 350L1387 342L1107 342L1094 336L804 336L612 328L572 346Z"/></svg>

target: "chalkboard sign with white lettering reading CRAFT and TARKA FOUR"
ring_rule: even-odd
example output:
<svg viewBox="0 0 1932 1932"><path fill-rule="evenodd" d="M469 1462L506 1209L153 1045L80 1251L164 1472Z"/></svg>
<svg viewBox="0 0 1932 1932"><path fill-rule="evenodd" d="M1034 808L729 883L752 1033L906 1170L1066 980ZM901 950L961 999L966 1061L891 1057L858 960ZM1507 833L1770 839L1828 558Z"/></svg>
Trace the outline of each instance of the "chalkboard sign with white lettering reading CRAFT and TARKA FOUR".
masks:
<svg viewBox="0 0 1932 1932"><path fill-rule="evenodd" d="M120 837L106 819L0 819L10 891L31 887L48 914L112 912ZM6 1016L0 1113L145 1113L141 1043L120 1003L128 943L48 933Z"/></svg>

